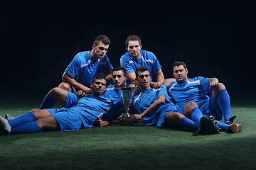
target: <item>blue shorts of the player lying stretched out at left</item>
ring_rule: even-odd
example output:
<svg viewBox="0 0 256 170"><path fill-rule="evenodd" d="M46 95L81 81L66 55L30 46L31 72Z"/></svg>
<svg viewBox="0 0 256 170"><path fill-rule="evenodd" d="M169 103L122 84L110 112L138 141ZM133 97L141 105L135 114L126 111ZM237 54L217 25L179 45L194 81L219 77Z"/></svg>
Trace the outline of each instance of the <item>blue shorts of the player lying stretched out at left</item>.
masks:
<svg viewBox="0 0 256 170"><path fill-rule="evenodd" d="M50 108L47 111L60 125L60 131L79 130L82 127L82 120L79 116L66 108Z"/></svg>

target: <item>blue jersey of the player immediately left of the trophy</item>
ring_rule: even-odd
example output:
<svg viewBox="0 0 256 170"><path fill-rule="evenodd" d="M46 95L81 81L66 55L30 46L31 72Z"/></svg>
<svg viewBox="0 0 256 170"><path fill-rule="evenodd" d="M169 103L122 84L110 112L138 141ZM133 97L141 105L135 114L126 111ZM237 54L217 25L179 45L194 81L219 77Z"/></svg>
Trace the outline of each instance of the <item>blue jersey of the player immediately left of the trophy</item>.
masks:
<svg viewBox="0 0 256 170"><path fill-rule="evenodd" d="M113 107L110 109L113 118L119 118L124 113L124 106L119 97L119 92L114 88L114 84L107 86L106 91L102 94L103 97L109 98L113 102Z"/></svg>

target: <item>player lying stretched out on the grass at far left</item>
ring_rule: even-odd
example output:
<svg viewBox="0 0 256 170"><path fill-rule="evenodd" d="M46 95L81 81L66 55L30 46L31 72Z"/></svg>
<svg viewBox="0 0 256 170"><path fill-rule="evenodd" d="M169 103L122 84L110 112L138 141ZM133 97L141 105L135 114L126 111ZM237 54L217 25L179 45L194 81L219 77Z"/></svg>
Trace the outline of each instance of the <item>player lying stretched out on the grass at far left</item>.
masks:
<svg viewBox="0 0 256 170"><path fill-rule="evenodd" d="M97 120L105 119L111 122L112 115L108 111L112 107L112 101L102 97L106 84L105 74L97 74L90 86L92 93L80 98L78 103L70 108L33 109L12 120L0 116L0 132L9 135L46 130L70 131L92 128Z"/></svg>

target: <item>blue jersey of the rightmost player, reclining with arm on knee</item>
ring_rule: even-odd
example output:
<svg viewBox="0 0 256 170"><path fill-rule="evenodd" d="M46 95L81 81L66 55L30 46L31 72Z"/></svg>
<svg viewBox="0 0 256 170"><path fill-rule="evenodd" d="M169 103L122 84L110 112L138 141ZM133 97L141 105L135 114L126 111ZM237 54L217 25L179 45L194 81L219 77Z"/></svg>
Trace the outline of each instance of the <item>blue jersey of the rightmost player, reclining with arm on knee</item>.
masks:
<svg viewBox="0 0 256 170"><path fill-rule="evenodd" d="M210 78L195 77L188 78L187 81L172 82L168 86L168 93L174 99L174 103L178 105L196 102L198 107L205 105L209 101L208 92Z"/></svg>

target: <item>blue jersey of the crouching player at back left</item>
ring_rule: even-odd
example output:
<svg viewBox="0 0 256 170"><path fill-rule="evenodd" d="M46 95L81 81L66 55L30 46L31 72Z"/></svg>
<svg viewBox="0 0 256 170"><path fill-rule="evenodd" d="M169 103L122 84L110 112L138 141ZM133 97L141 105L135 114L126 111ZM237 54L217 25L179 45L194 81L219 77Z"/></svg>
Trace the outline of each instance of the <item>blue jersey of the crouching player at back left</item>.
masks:
<svg viewBox="0 0 256 170"><path fill-rule="evenodd" d="M104 55L104 57L99 58L99 60L96 62L93 62L90 60L90 52L91 50L79 52L65 69L65 73L75 79L75 81L78 81L78 83L89 88L92 79L96 74L100 72L104 72L106 74L113 69L107 55Z"/></svg>

